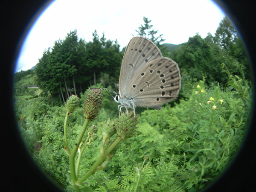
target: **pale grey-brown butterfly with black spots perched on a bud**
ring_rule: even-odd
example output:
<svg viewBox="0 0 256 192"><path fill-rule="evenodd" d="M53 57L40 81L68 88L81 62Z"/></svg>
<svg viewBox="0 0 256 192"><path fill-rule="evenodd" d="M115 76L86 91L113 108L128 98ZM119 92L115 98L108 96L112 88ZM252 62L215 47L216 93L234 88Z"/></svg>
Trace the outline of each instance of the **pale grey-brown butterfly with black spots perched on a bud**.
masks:
<svg viewBox="0 0 256 192"><path fill-rule="evenodd" d="M177 98L181 87L178 64L163 57L160 49L144 37L133 37L122 59L119 75L119 93L113 99L122 108L150 107L160 110L161 105ZM100 88L102 89L102 88ZM109 89L104 89L109 90Z"/></svg>

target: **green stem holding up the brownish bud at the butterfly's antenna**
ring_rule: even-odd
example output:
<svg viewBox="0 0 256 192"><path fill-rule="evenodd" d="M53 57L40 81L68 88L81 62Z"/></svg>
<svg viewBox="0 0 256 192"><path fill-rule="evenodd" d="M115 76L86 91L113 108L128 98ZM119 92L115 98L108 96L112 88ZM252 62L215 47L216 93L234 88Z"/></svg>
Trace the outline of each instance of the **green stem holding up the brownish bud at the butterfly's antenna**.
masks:
<svg viewBox="0 0 256 192"><path fill-rule="evenodd" d="M76 169L75 169L75 156L76 156L77 149L78 149L78 147L79 147L79 145L81 143L81 140L82 140L82 138L84 136L84 133L85 133L85 131L87 129L89 121L90 121L89 119L85 119L84 125L81 128L81 132L78 135L78 138L76 140L76 144L75 144L74 148L72 149L71 154L69 156L70 173L71 173L71 178L73 180L73 184L75 186L76 191L79 190L79 187L76 185L77 177L76 177Z"/></svg>

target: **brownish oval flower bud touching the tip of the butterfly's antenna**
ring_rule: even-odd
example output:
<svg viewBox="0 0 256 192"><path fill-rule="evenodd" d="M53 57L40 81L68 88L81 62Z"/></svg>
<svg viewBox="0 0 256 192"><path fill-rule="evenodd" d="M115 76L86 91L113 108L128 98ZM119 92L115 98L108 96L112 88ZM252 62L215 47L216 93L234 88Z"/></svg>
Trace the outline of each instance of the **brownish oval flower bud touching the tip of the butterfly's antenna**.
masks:
<svg viewBox="0 0 256 192"><path fill-rule="evenodd" d="M84 118L93 121L99 115L99 111L102 107L103 95L99 89L93 89L89 91L87 99L84 102Z"/></svg>

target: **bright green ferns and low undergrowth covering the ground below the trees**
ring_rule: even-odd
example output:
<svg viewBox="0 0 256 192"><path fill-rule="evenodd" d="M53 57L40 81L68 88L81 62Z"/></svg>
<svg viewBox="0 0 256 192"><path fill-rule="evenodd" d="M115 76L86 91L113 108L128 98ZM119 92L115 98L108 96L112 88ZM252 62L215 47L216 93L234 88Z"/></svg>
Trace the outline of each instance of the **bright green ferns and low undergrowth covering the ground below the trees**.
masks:
<svg viewBox="0 0 256 192"><path fill-rule="evenodd" d="M181 99L173 108L166 105L161 111L143 111L137 134L120 143L108 167L89 177L81 190L134 190L138 170L142 169L138 190L203 189L233 160L250 117L250 84L236 76L229 78L227 88L218 84L206 87L204 81L187 84L184 92L188 99ZM85 94L81 95L79 108L70 114L67 129L70 145L76 142L84 121L81 108ZM117 105L108 109L111 93L105 91L103 94L102 110L96 121L99 140L102 123L111 114L109 111L118 114ZM29 103L18 99L15 105L17 121L32 156L55 182L72 190L68 159L63 149L64 107L50 107L40 98L30 99ZM85 150L82 172L86 172L98 157L99 140ZM145 155L149 159L142 167Z"/></svg>

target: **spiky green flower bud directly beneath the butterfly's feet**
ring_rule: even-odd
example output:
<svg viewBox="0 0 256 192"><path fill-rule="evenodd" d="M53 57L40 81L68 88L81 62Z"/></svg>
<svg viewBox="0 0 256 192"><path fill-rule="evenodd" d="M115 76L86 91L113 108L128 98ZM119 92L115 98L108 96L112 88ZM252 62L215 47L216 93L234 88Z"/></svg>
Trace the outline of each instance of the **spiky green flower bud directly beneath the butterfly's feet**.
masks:
<svg viewBox="0 0 256 192"><path fill-rule="evenodd" d="M116 133L122 140L132 137L135 133L136 125L139 123L134 113L124 113L116 119Z"/></svg>

